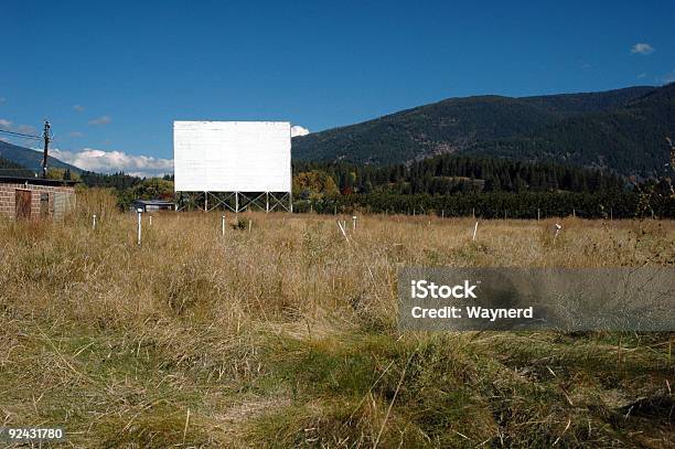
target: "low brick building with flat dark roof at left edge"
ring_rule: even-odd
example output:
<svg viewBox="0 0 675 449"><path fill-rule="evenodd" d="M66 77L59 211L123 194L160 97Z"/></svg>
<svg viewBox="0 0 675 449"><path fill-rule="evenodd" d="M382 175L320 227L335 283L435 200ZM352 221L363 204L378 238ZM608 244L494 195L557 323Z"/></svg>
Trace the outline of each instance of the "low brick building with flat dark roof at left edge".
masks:
<svg viewBox="0 0 675 449"><path fill-rule="evenodd" d="M0 177L0 215L62 218L75 205L76 181Z"/></svg>

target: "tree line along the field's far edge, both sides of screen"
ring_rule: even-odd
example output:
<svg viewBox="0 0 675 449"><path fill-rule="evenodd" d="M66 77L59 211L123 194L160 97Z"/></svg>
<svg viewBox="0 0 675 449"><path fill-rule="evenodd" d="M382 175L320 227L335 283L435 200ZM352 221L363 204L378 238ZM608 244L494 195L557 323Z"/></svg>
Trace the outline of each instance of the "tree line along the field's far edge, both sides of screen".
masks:
<svg viewBox="0 0 675 449"><path fill-rule="evenodd" d="M173 175L141 179L124 172L83 172L79 179L87 186L115 189L121 209L135 199L173 199ZM588 218L673 217L675 200L666 184L650 180L636 189L600 170L444 154L408 165L294 162L292 190L296 212L484 218L572 214Z"/></svg>

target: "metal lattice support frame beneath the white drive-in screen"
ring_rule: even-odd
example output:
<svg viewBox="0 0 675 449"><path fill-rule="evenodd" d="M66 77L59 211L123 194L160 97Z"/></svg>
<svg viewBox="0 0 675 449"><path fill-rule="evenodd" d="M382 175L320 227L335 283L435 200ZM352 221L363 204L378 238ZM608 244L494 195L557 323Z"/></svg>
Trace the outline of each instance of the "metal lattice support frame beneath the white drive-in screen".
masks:
<svg viewBox="0 0 675 449"><path fill-rule="evenodd" d="M293 212L291 192L175 192L175 211Z"/></svg>

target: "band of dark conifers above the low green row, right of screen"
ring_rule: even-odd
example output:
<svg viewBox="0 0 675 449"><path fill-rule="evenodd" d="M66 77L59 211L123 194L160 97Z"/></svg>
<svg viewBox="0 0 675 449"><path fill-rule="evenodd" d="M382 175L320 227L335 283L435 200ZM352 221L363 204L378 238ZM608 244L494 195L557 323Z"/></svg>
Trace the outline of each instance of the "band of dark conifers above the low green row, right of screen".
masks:
<svg viewBox="0 0 675 449"><path fill-rule="evenodd" d="M625 189L625 181L601 170L548 162L442 154L409 165L296 162L294 174L328 173L342 194L388 192L401 195L489 192L593 192ZM301 193L301 192L298 192Z"/></svg>

